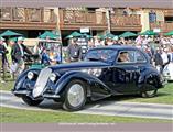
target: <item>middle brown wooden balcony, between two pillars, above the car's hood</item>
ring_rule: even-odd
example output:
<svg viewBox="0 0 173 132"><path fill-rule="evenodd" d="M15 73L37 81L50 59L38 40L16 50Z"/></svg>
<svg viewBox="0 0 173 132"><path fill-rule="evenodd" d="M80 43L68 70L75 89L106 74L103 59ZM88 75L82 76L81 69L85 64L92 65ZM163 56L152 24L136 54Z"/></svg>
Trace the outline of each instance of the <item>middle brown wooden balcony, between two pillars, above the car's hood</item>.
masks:
<svg viewBox="0 0 173 132"><path fill-rule="evenodd" d="M86 26L93 30L106 30L106 23L104 12L60 10L61 30L79 30Z"/></svg>

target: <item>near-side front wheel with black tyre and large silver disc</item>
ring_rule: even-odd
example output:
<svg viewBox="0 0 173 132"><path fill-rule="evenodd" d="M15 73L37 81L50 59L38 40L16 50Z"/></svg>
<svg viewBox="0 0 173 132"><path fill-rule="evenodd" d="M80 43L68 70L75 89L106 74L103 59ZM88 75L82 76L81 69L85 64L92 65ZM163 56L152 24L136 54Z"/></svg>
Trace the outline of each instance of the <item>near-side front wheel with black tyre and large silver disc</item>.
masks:
<svg viewBox="0 0 173 132"><path fill-rule="evenodd" d="M86 103L86 85L74 79L67 86L63 97L63 108L67 111L80 110Z"/></svg>

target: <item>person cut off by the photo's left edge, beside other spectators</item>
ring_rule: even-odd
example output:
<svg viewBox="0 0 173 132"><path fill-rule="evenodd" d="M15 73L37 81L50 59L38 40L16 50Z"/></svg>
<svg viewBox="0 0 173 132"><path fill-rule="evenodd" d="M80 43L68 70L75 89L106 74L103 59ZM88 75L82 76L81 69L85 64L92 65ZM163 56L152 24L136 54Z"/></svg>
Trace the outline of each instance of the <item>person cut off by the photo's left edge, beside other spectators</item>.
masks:
<svg viewBox="0 0 173 132"><path fill-rule="evenodd" d="M6 54L8 53L7 48L3 45L4 38L0 37L0 81L4 82L4 65L6 65ZM1 78L1 70L2 70L2 78Z"/></svg>

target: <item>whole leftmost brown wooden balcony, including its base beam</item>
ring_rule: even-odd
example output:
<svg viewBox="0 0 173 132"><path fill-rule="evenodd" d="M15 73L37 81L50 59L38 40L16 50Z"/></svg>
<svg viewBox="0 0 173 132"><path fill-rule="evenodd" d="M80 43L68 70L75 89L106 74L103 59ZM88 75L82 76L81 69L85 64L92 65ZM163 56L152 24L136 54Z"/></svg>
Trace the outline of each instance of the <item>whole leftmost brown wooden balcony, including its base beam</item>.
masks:
<svg viewBox="0 0 173 132"><path fill-rule="evenodd" d="M0 8L0 29L54 30L55 15L52 9Z"/></svg>

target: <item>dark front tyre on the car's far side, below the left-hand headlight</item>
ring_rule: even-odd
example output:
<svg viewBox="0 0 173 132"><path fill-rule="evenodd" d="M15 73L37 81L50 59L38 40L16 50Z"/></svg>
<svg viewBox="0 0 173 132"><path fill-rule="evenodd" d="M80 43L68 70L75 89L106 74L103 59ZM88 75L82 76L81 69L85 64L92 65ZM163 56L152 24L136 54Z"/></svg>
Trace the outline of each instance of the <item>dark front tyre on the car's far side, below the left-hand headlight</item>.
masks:
<svg viewBox="0 0 173 132"><path fill-rule="evenodd" d="M33 100L28 96L23 96L22 100L29 106L39 106L43 101L43 99Z"/></svg>

